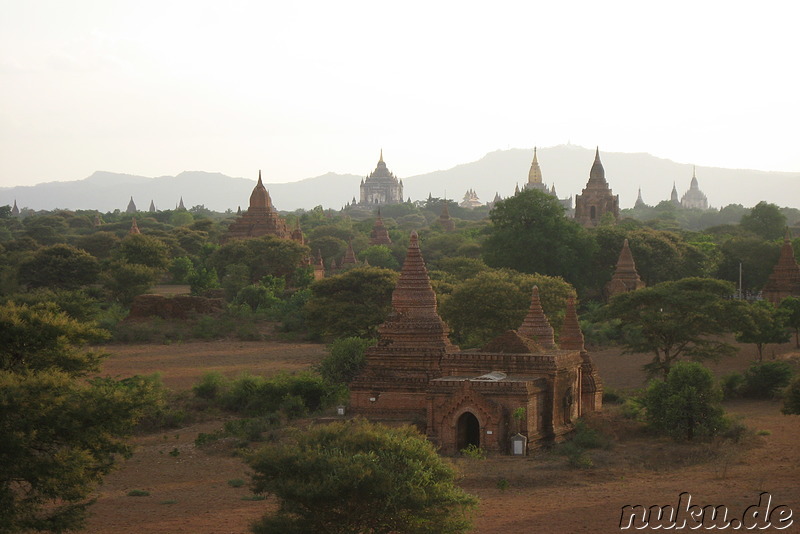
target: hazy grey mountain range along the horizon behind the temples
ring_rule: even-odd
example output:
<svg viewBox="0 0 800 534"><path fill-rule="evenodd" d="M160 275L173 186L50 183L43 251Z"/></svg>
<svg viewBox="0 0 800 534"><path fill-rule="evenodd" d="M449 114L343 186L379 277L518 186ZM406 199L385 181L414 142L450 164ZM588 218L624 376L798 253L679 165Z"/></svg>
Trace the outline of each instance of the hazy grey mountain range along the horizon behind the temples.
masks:
<svg viewBox="0 0 800 534"><path fill-rule="evenodd" d="M452 169L399 178L403 180L404 196L412 200L422 200L432 194L461 201L464 193L473 189L482 202L489 202L495 193L508 197L514 193L516 185L523 187L532 158L532 149L497 150L478 161ZM606 180L614 194L619 195L622 208L633 206L640 187L645 203L650 205L668 199L673 183L682 196L692 178L691 164L650 154L601 151L600 159ZM594 149L576 145L540 148L538 160L543 181L548 186L555 185L559 197L574 197L589 179ZM391 170L392 162L386 163ZM310 209L318 205L339 209L353 197L358 199L359 183L371 171L372 168L364 169L362 176L329 172L290 183L269 183L268 177L264 181L279 210ZM696 172L700 189L712 206L742 204L751 207L765 200L782 207L800 207L800 172L716 167L697 167ZM16 200L20 209L107 212L125 210L133 197L137 208L146 211L151 200L157 209L164 210L175 208L182 197L187 208L202 204L214 211L236 211L239 206L247 208L255 183L255 177L232 178L202 171L157 178L98 171L83 180L0 188L0 205L13 205Z"/></svg>

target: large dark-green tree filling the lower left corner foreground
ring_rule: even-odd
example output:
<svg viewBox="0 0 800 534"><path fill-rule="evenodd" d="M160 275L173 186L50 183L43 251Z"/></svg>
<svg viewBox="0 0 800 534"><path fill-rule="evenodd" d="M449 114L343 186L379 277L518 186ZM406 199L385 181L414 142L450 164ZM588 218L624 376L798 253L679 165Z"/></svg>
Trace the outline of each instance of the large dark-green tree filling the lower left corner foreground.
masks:
<svg viewBox="0 0 800 534"><path fill-rule="evenodd" d="M0 305L0 532L83 526L92 493L160 398L154 381L86 377L101 332L48 306Z"/></svg>

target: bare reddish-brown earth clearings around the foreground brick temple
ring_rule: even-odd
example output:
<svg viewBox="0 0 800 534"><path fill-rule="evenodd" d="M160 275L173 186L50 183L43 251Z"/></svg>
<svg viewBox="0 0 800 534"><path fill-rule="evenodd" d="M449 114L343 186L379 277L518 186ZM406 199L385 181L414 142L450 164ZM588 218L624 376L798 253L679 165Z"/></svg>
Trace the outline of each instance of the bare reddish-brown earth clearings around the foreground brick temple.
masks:
<svg viewBox="0 0 800 534"><path fill-rule="evenodd" d="M104 347L112 356L104 374L125 377L160 372L175 390L189 389L205 372L235 377L243 371L271 374L307 368L324 355L317 344L214 341L174 345ZM791 344L775 347L777 358L794 357ZM741 353L713 366L718 373L742 370L754 352ZM767 352L771 357L772 348ZM795 353L796 354L796 353ZM606 387L635 388L643 384L646 355L620 355L607 350L593 354ZM761 492L772 495L772 506L788 505L795 524L783 532L800 532L800 416L780 413L772 401L737 401L726 410L753 430L746 447L719 444L680 445L646 437L607 415L599 424L616 434L610 450L591 451L594 467L570 468L562 456L541 452L530 457L487 460L456 459L462 486L480 497L475 532L619 532L620 510L628 504L677 505L689 492L692 503L725 505L729 518L740 517L757 504ZM613 408L609 408L609 411ZM270 500L247 500L244 463L229 450L198 449L200 432L212 432L222 421L209 421L139 436L134 456L109 475L98 492L87 532L90 533L244 533L249 524L274 506ZM175 452L177 451L177 453ZM172 453L172 454L170 454ZM708 459L713 453L713 458ZM498 481L505 480L506 489ZM145 490L145 497L128 497Z"/></svg>

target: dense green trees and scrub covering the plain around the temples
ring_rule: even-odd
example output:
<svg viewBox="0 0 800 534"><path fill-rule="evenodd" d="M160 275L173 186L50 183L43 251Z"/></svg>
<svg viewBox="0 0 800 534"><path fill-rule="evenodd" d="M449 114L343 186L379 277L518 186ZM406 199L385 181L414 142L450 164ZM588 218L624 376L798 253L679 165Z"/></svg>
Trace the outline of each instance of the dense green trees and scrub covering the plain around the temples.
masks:
<svg viewBox="0 0 800 534"><path fill-rule="evenodd" d="M129 452L125 436L163 403L154 379L93 378L102 356L81 346L89 341L262 339L273 332L332 342L331 356L307 373L236 381L206 376L197 385L197 399L249 418L231 422L231 432L248 439L260 436L276 421L324 409L346 394L344 385L363 365L364 351L391 311L391 292L411 230L420 235L439 311L454 342L477 347L519 326L534 285L557 334L565 298L577 295L588 344L616 343L653 354L649 370L659 380L641 403L651 426L676 436L711 435L725 424L716 404L720 390L702 368L681 360L725 356L733 349L719 336L728 333L754 344L759 359L765 346L785 342L791 332L797 342L800 299L787 298L775 308L732 298L754 296L763 287L785 228L800 222L797 210L762 202L752 209L700 212L662 203L625 210L617 224L607 221L585 229L565 218L552 197L524 191L491 211L465 210L450 202L456 229L446 232L438 222L442 206L441 199L429 198L383 207L392 239L388 246L369 245L374 214L357 209L318 207L285 214L290 226L299 223L305 244L273 237L223 244L232 214L202 206L136 214L141 234L130 234L130 214L102 214L98 226L94 212L23 210L14 217L8 206L0 208L0 430L15 436L0 444L0 465L13 466L4 469L0 480L0 509L11 521L10 531L80 525L91 489L116 455ZM607 303L604 287L626 239L647 288ZM334 270L348 244L362 263ZM794 245L800 253L800 240ZM328 271L319 281L304 265L317 255ZM157 284L189 286L195 295L223 298L227 307L213 318L125 321L134 299ZM727 397L781 395L792 370L768 363L727 377L721 391ZM800 411L798 391L795 380L788 389L787 413ZM313 439L325 432L331 440L342 439L334 436L340 430L319 431ZM366 426L359 431L367 442L386 439L428 461L424 446L412 443L405 431L384 435ZM56 436L63 440L57 446ZM34 450L42 452L32 455ZM275 451L270 453L274 457L262 453L253 460L260 490L283 491L270 478L272 465L286 459ZM395 465L396 459L388 460ZM449 480L446 469L430 469ZM434 506L470 504L444 489L445 497L457 499ZM352 498L342 506L356 510L362 504L359 493ZM414 506L426 509L428 504ZM303 528L327 521L305 517L289 497L281 510L259 528ZM432 528L450 528L451 516L428 518L441 521L432 522ZM459 521L453 531L463 527Z"/></svg>

